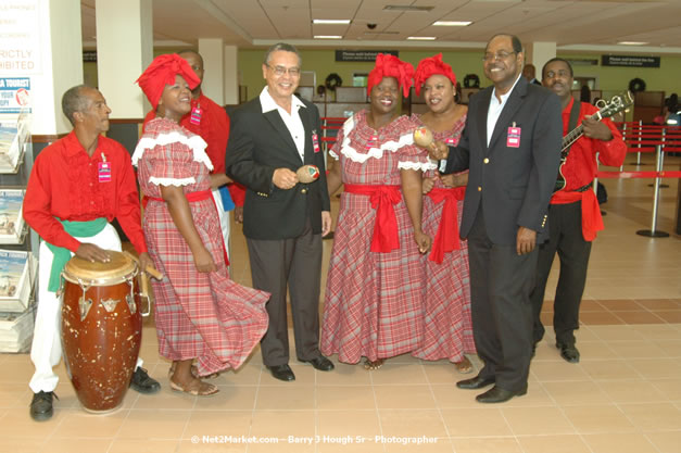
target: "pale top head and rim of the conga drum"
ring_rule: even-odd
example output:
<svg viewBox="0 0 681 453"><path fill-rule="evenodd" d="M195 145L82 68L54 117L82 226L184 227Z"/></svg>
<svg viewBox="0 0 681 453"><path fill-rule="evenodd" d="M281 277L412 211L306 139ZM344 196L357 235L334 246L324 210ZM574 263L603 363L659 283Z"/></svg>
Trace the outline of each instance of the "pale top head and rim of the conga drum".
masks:
<svg viewBox="0 0 681 453"><path fill-rule="evenodd" d="M135 277L137 264L121 252L108 250L111 255L109 263L89 262L78 256L72 257L64 266L64 278L74 284L83 281L87 285L117 285Z"/></svg>

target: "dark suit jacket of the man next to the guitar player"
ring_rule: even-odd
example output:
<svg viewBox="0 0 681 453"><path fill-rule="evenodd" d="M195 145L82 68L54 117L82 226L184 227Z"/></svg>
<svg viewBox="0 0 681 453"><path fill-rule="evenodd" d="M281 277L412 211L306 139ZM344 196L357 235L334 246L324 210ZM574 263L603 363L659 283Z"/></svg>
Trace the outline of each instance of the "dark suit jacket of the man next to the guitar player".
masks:
<svg viewBox="0 0 681 453"><path fill-rule="evenodd" d="M490 240L516 243L518 227L547 239L546 213L555 187L563 119L560 100L520 77L487 144L487 116L494 87L470 98L457 147L450 148L445 173L469 168L461 236L468 236L480 204ZM520 127L518 148L507 146L508 128Z"/></svg>

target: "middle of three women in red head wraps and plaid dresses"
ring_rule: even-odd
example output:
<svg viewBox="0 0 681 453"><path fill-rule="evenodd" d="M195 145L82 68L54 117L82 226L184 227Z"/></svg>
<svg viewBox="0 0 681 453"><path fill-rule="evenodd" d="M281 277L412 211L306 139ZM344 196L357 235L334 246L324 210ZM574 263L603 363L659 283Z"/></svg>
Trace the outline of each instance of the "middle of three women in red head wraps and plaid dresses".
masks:
<svg viewBox="0 0 681 453"><path fill-rule="evenodd" d="M414 70L379 54L369 74L370 105L348 118L330 155L329 193L341 184L338 227L326 285L320 349L375 369L418 348L423 337L424 266L430 238L423 234L424 150L413 123L400 116L400 87L408 93Z"/></svg>

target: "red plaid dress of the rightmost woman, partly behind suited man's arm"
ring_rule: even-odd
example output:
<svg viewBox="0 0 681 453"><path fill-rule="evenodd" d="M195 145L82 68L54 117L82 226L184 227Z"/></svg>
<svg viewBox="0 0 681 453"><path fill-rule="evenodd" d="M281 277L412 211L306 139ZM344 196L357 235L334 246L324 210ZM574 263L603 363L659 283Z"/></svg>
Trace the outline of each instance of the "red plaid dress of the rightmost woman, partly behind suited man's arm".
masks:
<svg viewBox="0 0 681 453"><path fill-rule="evenodd" d="M415 127L421 126L420 117L412 115ZM466 123L466 116L452 125L450 130L433 133L436 140L456 144ZM426 173L434 176L434 171ZM444 188L440 179L436 179L436 188ZM461 189L449 189L459 190ZM457 197L458 198L458 197ZM463 197L461 197L463 198ZM444 201L434 203L424 197L423 228L431 238L436 238L442 219ZM464 201L456 202L457 225L461 225ZM456 231L458 237L458 230ZM426 297L424 303L424 341L413 355L427 361L449 358L457 363L464 353L475 353L472 322L470 320L470 273L468 270L468 242L459 239L458 250L444 253L441 264L424 255L426 266Z"/></svg>

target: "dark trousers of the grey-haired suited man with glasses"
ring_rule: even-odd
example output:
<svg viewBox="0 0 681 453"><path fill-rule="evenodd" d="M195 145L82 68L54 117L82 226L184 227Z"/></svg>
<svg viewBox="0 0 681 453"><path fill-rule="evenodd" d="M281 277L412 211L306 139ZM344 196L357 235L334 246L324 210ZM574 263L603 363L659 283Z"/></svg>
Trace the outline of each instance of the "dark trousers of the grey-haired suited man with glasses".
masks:
<svg viewBox="0 0 681 453"><path fill-rule="evenodd" d="M303 361L318 356L321 235L312 232L308 221L304 232L297 238L247 238L247 244L253 288L272 293L266 305L269 326L261 340L264 364L289 363L287 287L291 294L295 354Z"/></svg>

